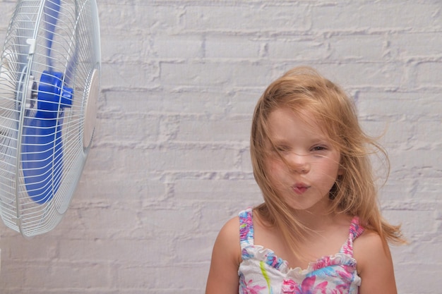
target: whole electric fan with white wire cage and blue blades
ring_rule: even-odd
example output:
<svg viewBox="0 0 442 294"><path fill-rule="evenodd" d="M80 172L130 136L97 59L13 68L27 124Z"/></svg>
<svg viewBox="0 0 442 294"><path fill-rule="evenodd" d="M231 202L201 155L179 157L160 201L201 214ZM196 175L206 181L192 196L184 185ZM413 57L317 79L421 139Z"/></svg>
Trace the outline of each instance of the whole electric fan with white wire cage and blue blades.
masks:
<svg viewBox="0 0 442 294"><path fill-rule="evenodd" d="M0 68L0 214L32 237L71 202L95 130L100 27L94 0L19 0Z"/></svg>

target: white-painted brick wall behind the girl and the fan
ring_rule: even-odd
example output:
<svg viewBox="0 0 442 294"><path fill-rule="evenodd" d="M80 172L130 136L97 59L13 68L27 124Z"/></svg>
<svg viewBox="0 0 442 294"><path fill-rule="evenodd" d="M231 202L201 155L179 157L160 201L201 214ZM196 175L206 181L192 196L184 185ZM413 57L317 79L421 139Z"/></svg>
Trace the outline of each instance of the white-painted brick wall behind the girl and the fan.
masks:
<svg viewBox="0 0 442 294"><path fill-rule="evenodd" d="M0 0L4 39L16 1ZM0 226L0 293L203 293L222 223L261 200L256 100L308 64L386 130L398 290L440 294L441 1L99 0L97 136L66 218L32 240Z"/></svg>

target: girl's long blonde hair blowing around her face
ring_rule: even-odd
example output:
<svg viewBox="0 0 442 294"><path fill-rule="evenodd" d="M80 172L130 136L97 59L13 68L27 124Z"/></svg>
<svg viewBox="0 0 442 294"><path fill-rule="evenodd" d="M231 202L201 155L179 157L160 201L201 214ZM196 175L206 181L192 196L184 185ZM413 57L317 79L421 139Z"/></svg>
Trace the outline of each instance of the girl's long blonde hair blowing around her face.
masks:
<svg viewBox="0 0 442 294"><path fill-rule="evenodd" d="M388 165L386 151L364 133L347 94L309 67L293 68L282 75L268 86L256 104L251 129L251 160L264 198L264 203L255 209L258 216L280 230L296 255L297 243L308 228L297 221L293 209L278 197L265 164L270 156L268 117L282 107L289 107L299 117L302 111L314 116L340 152L342 175L330 190L331 212L358 216L362 226L378 233L384 243L404 243L400 226L390 225L383 219L378 206L369 156L378 151Z"/></svg>

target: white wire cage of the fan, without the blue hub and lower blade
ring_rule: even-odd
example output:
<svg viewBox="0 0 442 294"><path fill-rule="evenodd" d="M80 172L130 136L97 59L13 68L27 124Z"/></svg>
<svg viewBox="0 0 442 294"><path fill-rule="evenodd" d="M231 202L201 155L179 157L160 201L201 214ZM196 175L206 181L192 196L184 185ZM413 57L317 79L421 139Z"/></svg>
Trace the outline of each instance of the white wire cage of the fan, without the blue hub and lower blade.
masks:
<svg viewBox="0 0 442 294"><path fill-rule="evenodd" d="M52 31L48 20L54 13L48 13L46 1L18 1L1 56L0 213L6 226L25 237L52 230L66 213L90 148L92 134L88 128L92 125L93 133L100 91L97 4L89 0L60 1ZM48 35L52 32L49 46ZM70 107L56 106L62 169L44 179L44 187L52 197L36 202L30 197L23 172L23 129L39 111L38 87L43 72L48 70L62 73L61 87L73 90L73 101ZM86 132L89 134L85 138ZM56 144L54 141L48 148Z"/></svg>

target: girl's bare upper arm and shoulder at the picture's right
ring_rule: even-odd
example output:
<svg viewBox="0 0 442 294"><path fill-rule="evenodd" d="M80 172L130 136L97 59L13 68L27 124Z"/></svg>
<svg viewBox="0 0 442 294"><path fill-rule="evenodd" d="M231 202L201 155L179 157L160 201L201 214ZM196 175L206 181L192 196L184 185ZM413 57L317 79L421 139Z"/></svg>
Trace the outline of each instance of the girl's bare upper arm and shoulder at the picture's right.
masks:
<svg viewBox="0 0 442 294"><path fill-rule="evenodd" d="M366 231L355 240L354 258L362 279L359 294L398 294L390 249L377 233Z"/></svg>

